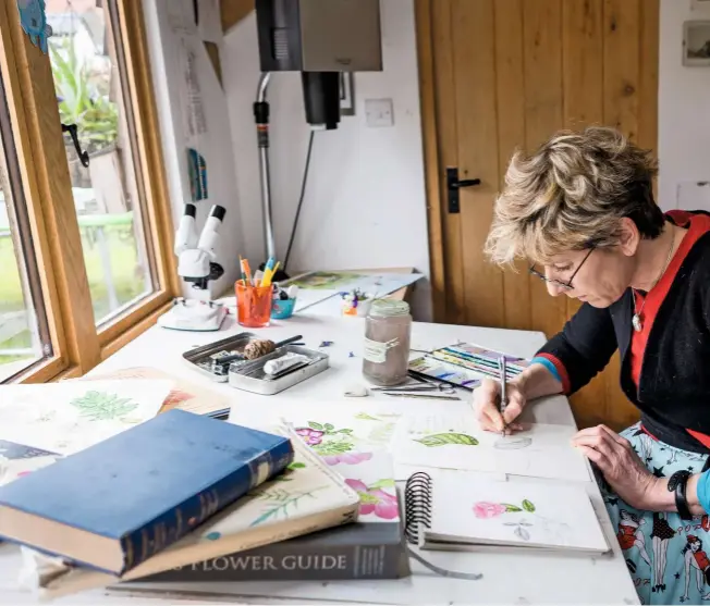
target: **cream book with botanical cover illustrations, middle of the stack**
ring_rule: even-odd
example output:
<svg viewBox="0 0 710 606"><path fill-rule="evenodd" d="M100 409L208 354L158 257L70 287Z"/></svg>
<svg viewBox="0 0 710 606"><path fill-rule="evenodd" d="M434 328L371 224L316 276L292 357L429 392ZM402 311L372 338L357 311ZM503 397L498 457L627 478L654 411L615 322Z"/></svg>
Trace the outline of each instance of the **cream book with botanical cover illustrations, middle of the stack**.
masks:
<svg viewBox="0 0 710 606"><path fill-rule="evenodd" d="M323 529L352 525L362 506L360 495L343 477L304 444L290 428L266 428L291 437L294 460L285 473L261 484L213 517L179 543L144 561L121 577L100 574L84 568L52 567L40 573L45 597L114 584L147 581L149 578L191 580L195 571L222 573L244 561L243 552L282 542ZM387 514L391 515L391 514ZM328 568L329 560L318 566ZM284 565L289 569L289 562ZM316 566L316 565L314 565Z"/></svg>

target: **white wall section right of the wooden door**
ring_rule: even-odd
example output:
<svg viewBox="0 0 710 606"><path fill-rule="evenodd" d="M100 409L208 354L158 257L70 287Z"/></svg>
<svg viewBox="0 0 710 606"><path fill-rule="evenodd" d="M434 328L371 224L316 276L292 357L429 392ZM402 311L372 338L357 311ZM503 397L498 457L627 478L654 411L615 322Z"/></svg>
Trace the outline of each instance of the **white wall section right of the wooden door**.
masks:
<svg viewBox="0 0 710 606"><path fill-rule="evenodd" d="M709 7L693 9L691 0L661 0L659 203L664 210L677 208L678 187L689 198L684 206L699 208L707 199L707 188L694 196L688 182L710 181L710 67L682 63L683 22L710 20L710 2L705 3Z"/></svg>

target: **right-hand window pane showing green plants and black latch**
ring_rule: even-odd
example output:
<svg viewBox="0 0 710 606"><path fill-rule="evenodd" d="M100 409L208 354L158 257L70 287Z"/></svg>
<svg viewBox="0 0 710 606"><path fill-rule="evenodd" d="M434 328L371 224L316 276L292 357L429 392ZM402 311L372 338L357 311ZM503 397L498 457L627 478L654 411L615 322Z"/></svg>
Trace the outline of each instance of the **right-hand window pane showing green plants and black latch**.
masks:
<svg viewBox="0 0 710 606"><path fill-rule="evenodd" d="M64 147L99 325L157 287L134 160L130 96L122 82L122 49L113 36L110 3L103 4L97 7L96 0L47 4L59 115L63 128L75 126L74 132L64 132Z"/></svg>

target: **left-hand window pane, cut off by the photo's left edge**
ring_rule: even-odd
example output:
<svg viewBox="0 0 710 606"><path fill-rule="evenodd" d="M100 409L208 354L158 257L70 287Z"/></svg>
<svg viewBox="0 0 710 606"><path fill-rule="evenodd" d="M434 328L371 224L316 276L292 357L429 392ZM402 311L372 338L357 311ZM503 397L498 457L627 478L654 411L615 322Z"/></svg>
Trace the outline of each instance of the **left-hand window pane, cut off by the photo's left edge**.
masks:
<svg viewBox="0 0 710 606"><path fill-rule="evenodd" d="M12 128L0 78L0 381L51 356Z"/></svg>

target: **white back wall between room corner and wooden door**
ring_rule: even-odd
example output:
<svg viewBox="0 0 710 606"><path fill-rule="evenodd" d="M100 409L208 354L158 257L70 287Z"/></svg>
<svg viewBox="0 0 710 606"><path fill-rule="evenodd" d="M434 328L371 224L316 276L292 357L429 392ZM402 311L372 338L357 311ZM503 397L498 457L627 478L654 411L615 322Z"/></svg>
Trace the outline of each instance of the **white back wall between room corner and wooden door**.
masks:
<svg viewBox="0 0 710 606"><path fill-rule="evenodd" d="M429 272L424 160L412 0L383 0L383 72L355 74L354 116L335 131L317 132L306 197L289 273L415 267ZM264 261L265 238L254 114L260 75L256 17L252 13L224 38L223 81L232 128L236 199L244 249L252 267ZM391 98L394 125L367 127L365 99ZM309 128L301 76L274 73L271 109L271 195L276 244L283 260L303 176ZM415 288L414 312L429 320L429 284Z"/></svg>

